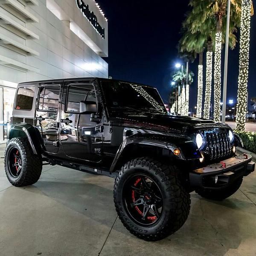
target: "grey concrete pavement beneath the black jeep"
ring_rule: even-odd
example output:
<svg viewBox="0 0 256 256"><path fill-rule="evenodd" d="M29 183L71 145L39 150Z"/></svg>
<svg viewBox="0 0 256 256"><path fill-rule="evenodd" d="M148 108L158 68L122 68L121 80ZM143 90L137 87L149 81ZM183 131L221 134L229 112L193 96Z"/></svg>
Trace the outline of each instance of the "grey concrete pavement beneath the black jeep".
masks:
<svg viewBox="0 0 256 256"><path fill-rule="evenodd" d="M44 166L38 183L15 188L1 158L0 256L256 256L256 172L223 202L191 198L177 233L146 242L117 218L113 179Z"/></svg>

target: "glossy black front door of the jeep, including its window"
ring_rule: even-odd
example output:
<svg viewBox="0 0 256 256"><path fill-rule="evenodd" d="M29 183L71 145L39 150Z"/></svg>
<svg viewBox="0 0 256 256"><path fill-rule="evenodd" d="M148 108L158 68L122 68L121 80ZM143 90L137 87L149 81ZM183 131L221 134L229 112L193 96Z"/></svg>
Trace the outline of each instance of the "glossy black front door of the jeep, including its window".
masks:
<svg viewBox="0 0 256 256"><path fill-rule="evenodd" d="M61 104L61 145L68 157L99 163L102 159L102 118L80 113L80 102L96 102L93 84L66 84Z"/></svg>

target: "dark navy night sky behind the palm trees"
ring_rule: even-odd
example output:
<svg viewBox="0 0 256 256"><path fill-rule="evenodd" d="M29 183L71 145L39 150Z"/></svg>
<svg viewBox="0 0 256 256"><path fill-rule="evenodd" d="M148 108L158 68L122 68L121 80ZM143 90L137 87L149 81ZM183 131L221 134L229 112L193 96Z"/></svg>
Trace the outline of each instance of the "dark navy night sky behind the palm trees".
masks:
<svg viewBox="0 0 256 256"><path fill-rule="evenodd" d="M189 0L97 2L108 18L109 57L105 60L109 64L109 76L157 87L167 103L175 63L182 62L177 43ZM249 98L256 97L256 15L252 18L250 46ZM227 100L236 102L239 46L229 54ZM224 64L224 49L222 56ZM195 79L190 88L189 110L197 100L197 65L198 60L190 65Z"/></svg>

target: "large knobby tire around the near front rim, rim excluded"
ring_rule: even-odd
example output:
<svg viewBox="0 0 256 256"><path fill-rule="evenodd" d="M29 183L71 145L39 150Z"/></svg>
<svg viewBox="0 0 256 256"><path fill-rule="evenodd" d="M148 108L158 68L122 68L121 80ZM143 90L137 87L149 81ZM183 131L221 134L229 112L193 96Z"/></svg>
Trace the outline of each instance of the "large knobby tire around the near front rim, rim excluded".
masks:
<svg viewBox="0 0 256 256"><path fill-rule="evenodd" d="M128 214L123 200L125 181L138 172L150 176L157 183L164 206L162 215L150 226L138 225ZM190 195L181 185L176 166L167 166L151 158L142 157L125 163L114 184L114 203L122 224L133 235L146 241L161 240L175 233L185 223L190 210Z"/></svg>

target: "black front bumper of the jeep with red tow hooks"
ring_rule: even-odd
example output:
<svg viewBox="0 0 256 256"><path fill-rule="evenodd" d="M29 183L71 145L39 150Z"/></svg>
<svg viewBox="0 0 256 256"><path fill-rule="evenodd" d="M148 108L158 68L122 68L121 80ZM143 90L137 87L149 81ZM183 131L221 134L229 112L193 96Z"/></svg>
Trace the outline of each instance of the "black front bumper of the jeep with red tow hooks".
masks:
<svg viewBox="0 0 256 256"><path fill-rule="evenodd" d="M220 163L214 163L189 173L192 188L219 189L229 186L241 176L247 176L255 169L251 155L237 155Z"/></svg>

